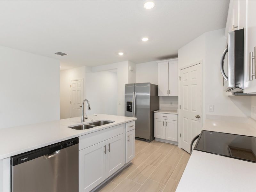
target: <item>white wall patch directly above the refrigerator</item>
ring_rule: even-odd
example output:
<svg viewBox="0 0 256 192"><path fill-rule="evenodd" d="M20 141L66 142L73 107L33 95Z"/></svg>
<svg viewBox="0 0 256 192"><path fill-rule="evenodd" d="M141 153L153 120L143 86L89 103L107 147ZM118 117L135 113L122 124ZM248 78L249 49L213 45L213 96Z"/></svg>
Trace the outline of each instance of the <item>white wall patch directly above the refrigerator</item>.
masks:
<svg viewBox="0 0 256 192"><path fill-rule="evenodd" d="M136 65L136 83L147 83L158 85L158 67L156 61L138 63Z"/></svg>

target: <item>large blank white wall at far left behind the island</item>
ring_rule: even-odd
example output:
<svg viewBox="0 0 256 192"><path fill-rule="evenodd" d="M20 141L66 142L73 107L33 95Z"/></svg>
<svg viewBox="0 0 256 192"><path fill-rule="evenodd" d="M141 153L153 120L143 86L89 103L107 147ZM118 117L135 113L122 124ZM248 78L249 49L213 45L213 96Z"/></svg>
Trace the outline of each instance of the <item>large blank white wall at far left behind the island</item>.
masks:
<svg viewBox="0 0 256 192"><path fill-rule="evenodd" d="M59 60L0 46L0 128L60 119Z"/></svg>

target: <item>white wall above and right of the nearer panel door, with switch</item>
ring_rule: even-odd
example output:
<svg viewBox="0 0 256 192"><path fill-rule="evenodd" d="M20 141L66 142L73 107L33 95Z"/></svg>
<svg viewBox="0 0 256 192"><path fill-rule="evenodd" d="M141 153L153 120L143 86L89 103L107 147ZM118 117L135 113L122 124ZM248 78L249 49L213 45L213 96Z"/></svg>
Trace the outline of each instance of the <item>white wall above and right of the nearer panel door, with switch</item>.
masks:
<svg viewBox="0 0 256 192"><path fill-rule="evenodd" d="M210 31L179 49L179 68L203 61L203 115L250 116L251 100L223 92L220 58L226 45L224 29ZM209 112L214 105L214 112Z"/></svg>

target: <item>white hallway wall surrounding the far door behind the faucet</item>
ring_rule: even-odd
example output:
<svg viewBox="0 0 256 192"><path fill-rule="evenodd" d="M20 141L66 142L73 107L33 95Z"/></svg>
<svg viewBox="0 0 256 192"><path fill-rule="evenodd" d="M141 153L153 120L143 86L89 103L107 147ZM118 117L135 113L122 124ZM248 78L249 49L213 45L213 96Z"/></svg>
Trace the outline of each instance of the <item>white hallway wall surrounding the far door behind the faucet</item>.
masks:
<svg viewBox="0 0 256 192"><path fill-rule="evenodd" d="M85 99L85 66L60 71L60 119L70 118L70 81L83 79Z"/></svg>

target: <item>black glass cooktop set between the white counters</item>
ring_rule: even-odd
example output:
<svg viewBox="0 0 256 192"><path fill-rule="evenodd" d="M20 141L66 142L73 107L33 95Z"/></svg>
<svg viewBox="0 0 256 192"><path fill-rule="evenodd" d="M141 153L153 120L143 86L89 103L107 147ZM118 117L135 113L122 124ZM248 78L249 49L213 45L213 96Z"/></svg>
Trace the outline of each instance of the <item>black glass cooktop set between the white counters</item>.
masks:
<svg viewBox="0 0 256 192"><path fill-rule="evenodd" d="M203 130L194 149L256 163L256 137Z"/></svg>

